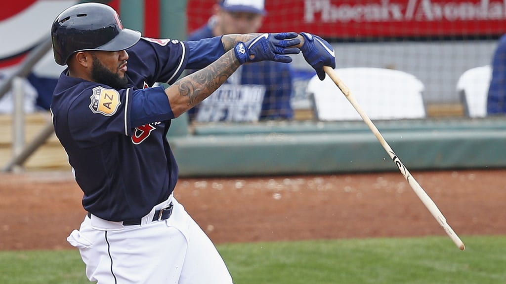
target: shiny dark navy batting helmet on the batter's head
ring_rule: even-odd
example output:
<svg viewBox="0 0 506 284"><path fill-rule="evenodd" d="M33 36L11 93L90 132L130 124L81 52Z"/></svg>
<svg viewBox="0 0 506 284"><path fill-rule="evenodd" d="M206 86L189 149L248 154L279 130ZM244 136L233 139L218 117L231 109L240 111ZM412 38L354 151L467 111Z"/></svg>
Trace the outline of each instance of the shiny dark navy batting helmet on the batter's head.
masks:
<svg viewBox="0 0 506 284"><path fill-rule="evenodd" d="M111 7L100 3L83 3L67 8L51 27L56 63L67 64L78 51L122 51L136 44L141 33L123 28Z"/></svg>

